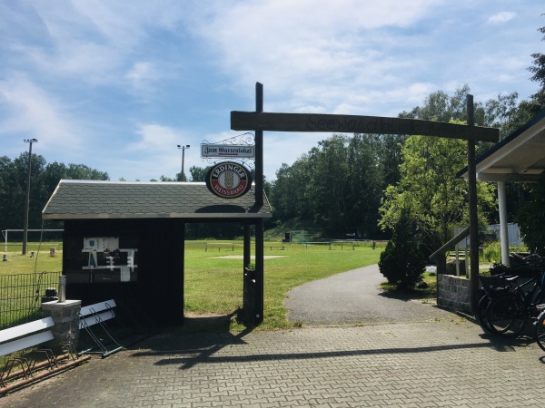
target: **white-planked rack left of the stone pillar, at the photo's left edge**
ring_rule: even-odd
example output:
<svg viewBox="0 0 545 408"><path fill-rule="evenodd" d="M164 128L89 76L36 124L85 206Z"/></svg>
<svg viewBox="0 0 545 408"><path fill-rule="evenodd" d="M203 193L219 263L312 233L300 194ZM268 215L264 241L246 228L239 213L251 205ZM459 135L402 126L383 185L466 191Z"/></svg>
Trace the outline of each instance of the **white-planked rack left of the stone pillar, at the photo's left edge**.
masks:
<svg viewBox="0 0 545 408"><path fill-rule="evenodd" d="M42 345L45 342L54 340L53 332L51 331L54 326L52 317L45 317L34 322L25 323L23 325L16 325L0 331L0 357L5 355L11 355L15 352L21 352L25 349L30 349L37 345ZM43 378L47 375L54 374L60 369L67 368L68 366L80 364L87 360L76 360L76 353L74 345L70 343L62 343L61 347L67 354L55 357L51 349L38 349L35 350L38 353L45 355L45 361L38 363L36 359L29 360L25 357L10 358L5 364L2 374L0 374L0 394L10 391L17 386L21 386L39 378ZM63 360L69 356L72 356L73 362L70 364L64 364L60 366L57 364L60 360ZM18 366L18 370L14 371L14 368ZM39 369L45 368L45 372L36 374ZM15 384L7 384L8 380L15 380L23 378L23 381Z"/></svg>

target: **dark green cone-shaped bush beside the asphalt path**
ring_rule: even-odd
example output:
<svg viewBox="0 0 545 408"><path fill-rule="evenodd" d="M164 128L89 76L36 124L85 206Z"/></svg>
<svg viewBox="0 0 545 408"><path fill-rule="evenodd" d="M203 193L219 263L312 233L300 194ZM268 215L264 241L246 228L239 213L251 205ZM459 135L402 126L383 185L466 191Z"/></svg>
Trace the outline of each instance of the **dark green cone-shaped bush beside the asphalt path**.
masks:
<svg viewBox="0 0 545 408"><path fill-rule="evenodd" d="M413 287L421 280L426 263L412 234L409 212L403 210L391 241L381 253L379 268L388 283L398 289Z"/></svg>

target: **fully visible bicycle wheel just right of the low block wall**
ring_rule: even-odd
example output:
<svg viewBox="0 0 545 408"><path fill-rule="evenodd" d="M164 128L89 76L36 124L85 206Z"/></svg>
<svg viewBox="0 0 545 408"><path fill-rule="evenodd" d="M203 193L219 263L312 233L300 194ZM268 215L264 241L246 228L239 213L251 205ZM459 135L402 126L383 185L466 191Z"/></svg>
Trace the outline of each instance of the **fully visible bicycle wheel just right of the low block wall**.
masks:
<svg viewBox="0 0 545 408"><path fill-rule="evenodd" d="M487 316L492 332L514 337L520 335L526 325L526 306L518 297L500 296L490 301Z"/></svg>

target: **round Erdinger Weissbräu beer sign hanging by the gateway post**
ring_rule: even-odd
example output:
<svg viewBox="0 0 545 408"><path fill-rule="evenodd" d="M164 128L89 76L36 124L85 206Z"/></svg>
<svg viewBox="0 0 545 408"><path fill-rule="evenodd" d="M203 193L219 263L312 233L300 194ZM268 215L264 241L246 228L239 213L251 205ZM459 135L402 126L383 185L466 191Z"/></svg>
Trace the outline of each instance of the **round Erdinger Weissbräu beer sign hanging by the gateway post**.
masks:
<svg viewBox="0 0 545 408"><path fill-rule="evenodd" d="M206 186L218 197L236 199L252 187L252 174L242 164L223 161L208 170Z"/></svg>

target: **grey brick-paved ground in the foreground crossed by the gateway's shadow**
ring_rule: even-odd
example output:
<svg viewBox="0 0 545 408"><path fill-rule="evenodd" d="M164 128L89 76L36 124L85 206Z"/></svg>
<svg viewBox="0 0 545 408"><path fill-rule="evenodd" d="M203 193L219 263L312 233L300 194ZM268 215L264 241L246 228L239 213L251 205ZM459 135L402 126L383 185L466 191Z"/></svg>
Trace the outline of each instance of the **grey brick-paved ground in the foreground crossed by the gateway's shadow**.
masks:
<svg viewBox="0 0 545 408"><path fill-rule="evenodd" d="M446 316L241 334L165 330L0 397L0 406L544 405L545 353L537 345L490 339L478 325Z"/></svg>

